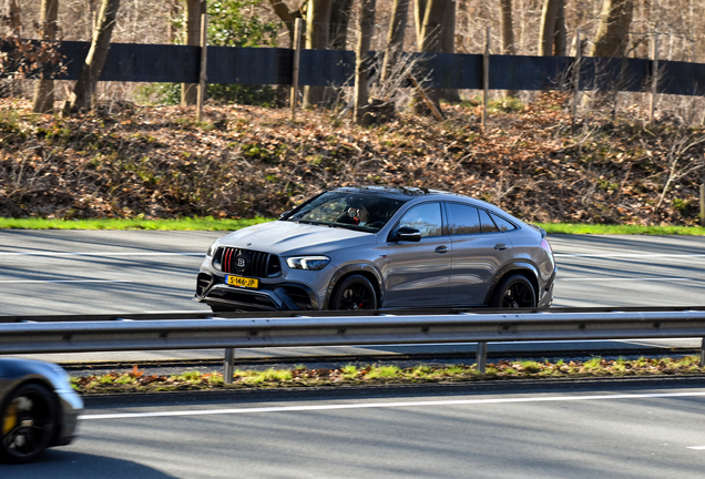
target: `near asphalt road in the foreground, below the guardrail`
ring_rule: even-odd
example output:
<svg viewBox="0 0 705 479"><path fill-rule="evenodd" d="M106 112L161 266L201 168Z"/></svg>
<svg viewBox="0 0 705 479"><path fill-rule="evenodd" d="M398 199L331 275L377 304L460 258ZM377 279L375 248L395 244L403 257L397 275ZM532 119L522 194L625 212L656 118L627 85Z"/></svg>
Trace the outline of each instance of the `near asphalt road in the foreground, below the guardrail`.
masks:
<svg viewBox="0 0 705 479"><path fill-rule="evenodd" d="M477 385L109 399L3 478L702 478L692 384Z"/></svg>

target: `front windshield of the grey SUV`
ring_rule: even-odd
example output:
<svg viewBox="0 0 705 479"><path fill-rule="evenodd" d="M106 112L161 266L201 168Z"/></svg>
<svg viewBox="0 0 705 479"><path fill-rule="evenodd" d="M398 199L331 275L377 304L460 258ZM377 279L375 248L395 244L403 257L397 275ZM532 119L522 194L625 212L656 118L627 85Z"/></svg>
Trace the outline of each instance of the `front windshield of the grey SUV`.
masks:
<svg viewBox="0 0 705 479"><path fill-rule="evenodd" d="M283 221L376 233L406 202L366 193L326 192L298 206Z"/></svg>

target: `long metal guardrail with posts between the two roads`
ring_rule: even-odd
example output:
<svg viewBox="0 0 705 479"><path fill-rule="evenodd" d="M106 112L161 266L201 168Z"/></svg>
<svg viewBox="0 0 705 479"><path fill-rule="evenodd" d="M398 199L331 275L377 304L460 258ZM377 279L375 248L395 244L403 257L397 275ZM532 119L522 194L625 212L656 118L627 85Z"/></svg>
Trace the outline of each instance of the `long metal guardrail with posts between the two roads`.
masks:
<svg viewBox="0 0 705 479"><path fill-rule="evenodd" d="M705 308L654 309L366 312L366 316L323 312L316 317L193 315L198 318L74 322L63 317L62 322L37 323L25 317L22 323L0 324L0 354L224 348L228 381L235 348L478 343L478 369L484 371L487 344L493 342L699 337L705 344ZM705 348L701 349L701 366L705 366Z"/></svg>

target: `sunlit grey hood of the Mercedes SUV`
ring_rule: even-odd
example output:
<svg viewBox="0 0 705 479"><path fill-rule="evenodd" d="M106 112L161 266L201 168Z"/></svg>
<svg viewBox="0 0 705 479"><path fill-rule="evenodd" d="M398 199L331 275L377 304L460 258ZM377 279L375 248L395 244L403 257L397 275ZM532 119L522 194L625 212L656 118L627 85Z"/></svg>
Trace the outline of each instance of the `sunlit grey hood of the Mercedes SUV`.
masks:
<svg viewBox="0 0 705 479"><path fill-rule="evenodd" d="M377 236L374 233L274 221L231 233L221 238L219 244L282 255L326 254L376 242Z"/></svg>

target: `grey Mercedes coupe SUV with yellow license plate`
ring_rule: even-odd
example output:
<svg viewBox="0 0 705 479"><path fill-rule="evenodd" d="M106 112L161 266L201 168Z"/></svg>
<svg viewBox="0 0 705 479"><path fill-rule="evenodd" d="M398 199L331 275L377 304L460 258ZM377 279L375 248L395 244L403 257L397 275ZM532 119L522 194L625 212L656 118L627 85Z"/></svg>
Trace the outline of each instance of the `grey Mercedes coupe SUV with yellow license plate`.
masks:
<svg viewBox="0 0 705 479"><path fill-rule="evenodd" d="M489 203L411 187L326 191L208 249L214 312L548 307L545 231Z"/></svg>

